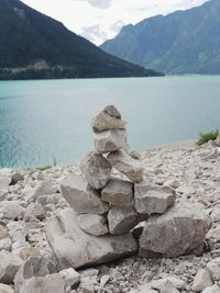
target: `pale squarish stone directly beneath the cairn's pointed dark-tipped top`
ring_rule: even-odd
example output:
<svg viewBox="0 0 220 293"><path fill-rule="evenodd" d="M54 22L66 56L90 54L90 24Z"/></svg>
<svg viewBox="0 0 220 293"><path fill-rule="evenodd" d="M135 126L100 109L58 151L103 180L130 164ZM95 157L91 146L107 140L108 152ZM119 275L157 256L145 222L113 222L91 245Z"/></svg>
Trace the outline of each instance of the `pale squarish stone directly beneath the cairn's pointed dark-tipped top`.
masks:
<svg viewBox="0 0 220 293"><path fill-rule="evenodd" d="M127 132L123 129L109 129L95 133L95 148L99 154L107 154L119 149L127 149Z"/></svg>

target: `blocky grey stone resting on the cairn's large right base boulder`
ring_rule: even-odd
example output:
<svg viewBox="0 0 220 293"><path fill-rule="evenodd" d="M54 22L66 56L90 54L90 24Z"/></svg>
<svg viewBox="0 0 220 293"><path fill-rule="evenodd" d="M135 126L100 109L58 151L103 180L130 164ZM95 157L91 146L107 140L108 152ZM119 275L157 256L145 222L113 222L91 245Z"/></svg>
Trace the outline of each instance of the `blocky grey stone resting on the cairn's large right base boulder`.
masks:
<svg viewBox="0 0 220 293"><path fill-rule="evenodd" d="M140 214L163 214L175 199L175 191L168 187L151 187L144 182L134 184L135 209Z"/></svg>

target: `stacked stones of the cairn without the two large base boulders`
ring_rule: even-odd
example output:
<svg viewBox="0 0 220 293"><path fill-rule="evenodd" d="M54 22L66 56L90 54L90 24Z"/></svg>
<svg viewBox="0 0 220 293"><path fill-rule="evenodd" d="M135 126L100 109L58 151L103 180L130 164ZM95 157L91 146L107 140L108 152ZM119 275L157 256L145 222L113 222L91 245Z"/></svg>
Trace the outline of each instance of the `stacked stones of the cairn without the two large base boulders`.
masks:
<svg viewBox="0 0 220 293"><path fill-rule="evenodd" d="M128 153L125 122L116 106L105 108L91 125L96 150L82 159L82 174L72 177L62 192L84 232L123 235L151 214L163 214L174 204L175 192L144 183L142 164ZM112 168L121 176L112 177Z"/></svg>

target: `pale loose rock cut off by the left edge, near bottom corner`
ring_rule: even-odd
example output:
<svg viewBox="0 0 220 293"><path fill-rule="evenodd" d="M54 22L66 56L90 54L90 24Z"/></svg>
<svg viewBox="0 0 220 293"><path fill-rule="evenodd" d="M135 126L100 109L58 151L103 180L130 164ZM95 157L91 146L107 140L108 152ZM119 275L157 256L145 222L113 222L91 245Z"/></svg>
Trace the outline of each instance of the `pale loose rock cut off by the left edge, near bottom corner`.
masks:
<svg viewBox="0 0 220 293"><path fill-rule="evenodd" d="M0 251L0 282L12 284L22 262L20 257L6 250Z"/></svg>

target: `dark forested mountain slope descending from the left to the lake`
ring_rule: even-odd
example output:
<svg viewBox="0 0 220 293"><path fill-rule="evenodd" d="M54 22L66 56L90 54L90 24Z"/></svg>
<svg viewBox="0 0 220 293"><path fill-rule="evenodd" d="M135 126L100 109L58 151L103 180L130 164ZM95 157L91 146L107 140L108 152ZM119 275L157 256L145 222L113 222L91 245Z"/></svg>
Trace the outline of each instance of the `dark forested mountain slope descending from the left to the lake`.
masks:
<svg viewBox="0 0 220 293"><path fill-rule="evenodd" d="M19 0L0 0L0 79L152 75Z"/></svg>

